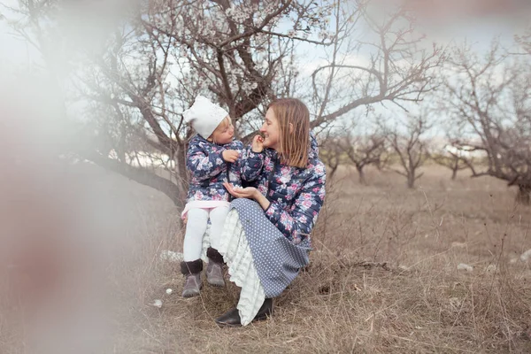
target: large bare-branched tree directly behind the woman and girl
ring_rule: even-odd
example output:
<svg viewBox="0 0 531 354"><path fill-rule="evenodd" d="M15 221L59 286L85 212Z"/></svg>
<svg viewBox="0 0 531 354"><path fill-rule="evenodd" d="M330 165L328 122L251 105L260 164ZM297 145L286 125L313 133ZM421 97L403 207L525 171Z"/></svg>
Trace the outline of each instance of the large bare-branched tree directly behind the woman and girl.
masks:
<svg viewBox="0 0 531 354"><path fill-rule="evenodd" d="M77 46L68 57L75 70L62 79L74 88L73 96L89 102L83 131L98 142L78 149L80 154L182 206L192 132L181 112L198 94L227 107L239 137L257 129L266 104L279 96L311 101L312 127L332 124L360 105L420 100L434 88L442 51L422 47L407 12L374 19L367 3L168 0L127 8L104 45ZM54 16L61 2L19 4L31 29L19 28L27 41L37 47L42 38L62 42L69 28ZM360 26L372 35L352 36ZM330 55L306 79L302 45ZM352 60L363 53L366 59ZM139 146L145 150L135 151ZM111 150L116 158L109 157ZM127 158L135 152L171 163L165 173L136 167Z"/></svg>

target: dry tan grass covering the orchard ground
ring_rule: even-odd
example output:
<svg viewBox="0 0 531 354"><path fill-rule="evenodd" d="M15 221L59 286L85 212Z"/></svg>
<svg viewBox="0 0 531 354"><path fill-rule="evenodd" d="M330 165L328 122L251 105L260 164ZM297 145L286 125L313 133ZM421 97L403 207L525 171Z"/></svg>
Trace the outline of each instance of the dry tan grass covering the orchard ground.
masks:
<svg viewBox="0 0 531 354"><path fill-rule="evenodd" d="M350 170L336 173L311 265L275 300L272 319L243 328L213 322L236 303L234 285L183 299L177 265L158 259L159 250L181 250L171 202L107 175L97 188L127 201L119 231L128 240L106 273L115 321L108 351L531 352L531 268L512 260L531 248L531 209L515 206L503 182L450 181L437 166L425 173L415 190L394 173L368 171L369 186ZM161 309L150 305L155 298ZM7 319L2 352L23 352Z"/></svg>

